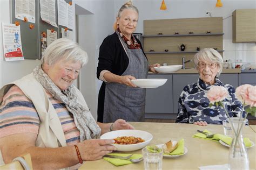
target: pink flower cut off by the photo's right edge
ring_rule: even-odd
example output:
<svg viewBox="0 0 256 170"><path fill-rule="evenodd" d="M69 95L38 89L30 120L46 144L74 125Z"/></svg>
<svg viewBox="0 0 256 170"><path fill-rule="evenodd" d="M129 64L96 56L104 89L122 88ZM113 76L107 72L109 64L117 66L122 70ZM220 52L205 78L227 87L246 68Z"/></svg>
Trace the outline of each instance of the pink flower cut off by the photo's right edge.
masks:
<svg viewBox="0 0 256 170"><path fill-rule="evenodd" d="M251 107L256 107L256 86L244 84L235 89L235 95L240 102Z"/></svg>

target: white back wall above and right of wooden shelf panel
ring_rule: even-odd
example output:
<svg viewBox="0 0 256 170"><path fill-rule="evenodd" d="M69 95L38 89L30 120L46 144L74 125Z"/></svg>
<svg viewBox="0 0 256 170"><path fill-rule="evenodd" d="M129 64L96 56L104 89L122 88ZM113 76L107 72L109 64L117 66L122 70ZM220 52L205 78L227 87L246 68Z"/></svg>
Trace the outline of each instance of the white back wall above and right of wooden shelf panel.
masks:
<svg viewBox="0 0 256 170"><path fill-rule="evenodd" d="M115 13L125 2L114 0ZM232 12L235 9L255 9L255 0L223 0L221 8L215 8L216 0L165 0L167 10L159 10L161 1L157 0L133 0L132 2L139 10L136 32L140 33L143 33L143 20L208 17L205 15L206 12L211 12L212 17L223 17L224 59L231 59L237 63L241 63L240 60L244 63L250 62L252 67L256 68L255 43L232 43Z"/></svg>

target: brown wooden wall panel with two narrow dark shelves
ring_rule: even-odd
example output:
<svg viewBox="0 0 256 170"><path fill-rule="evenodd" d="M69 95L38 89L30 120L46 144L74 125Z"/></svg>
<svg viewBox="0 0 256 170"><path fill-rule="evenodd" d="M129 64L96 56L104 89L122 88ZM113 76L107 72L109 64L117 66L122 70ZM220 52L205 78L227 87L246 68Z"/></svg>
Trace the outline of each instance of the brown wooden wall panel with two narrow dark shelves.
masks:
<svg viewBox="0 0 256 170"><path fill-rule="evenodd" d="M222 17L144 20L144 52L150 64L181 65L183 57L193 60L198 47L217 48L222 55L223 34Z"/></svg>

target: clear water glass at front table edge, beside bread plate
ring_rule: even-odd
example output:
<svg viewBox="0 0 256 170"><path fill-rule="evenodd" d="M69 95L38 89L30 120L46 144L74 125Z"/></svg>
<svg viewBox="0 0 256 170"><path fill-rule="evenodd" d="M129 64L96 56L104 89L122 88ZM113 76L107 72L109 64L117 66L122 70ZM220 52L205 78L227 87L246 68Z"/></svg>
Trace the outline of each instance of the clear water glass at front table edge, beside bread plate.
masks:
<svg viewBox="0 0 256 170"><path fill-rule="evenodd" d="M157 146L150 146L151 149L148 150L146 147L142 149L143 162L145 170L162 169L163 162L163 148L158 148ZM156 150L154 151L154 147Z"/></svg>

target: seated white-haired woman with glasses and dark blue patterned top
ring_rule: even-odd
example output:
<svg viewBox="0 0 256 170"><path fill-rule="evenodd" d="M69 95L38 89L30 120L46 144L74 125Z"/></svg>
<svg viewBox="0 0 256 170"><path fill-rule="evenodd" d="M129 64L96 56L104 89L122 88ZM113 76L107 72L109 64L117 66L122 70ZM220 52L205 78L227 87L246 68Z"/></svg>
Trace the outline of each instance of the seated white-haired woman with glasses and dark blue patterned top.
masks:
<svg viewBox="0 0 256 170"><path fill-rule="evenodd" d="M222 56L212 48L205 48L194 56L194 65L199 72L199 79L197 83L184 87L178 101L176 123L206 126L207 124L222 124L228 118L223 108L209 106L207 91L211 86L223 86L227 89L229 96L223 104L230 117L240 116L242 104L235 96L234 87L224 84L218 78L223 70Z"/></svg>

